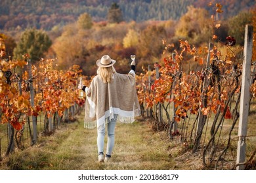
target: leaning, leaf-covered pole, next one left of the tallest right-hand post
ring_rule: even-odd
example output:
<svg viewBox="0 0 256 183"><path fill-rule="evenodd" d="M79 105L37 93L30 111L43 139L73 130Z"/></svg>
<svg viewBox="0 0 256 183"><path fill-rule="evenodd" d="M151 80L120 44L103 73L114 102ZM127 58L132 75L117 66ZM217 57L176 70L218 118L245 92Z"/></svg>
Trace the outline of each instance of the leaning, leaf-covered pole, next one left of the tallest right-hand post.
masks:
<svg viewBox="0 0 256 183"><path fill-rule="evenodd" d="M211 59L210 51L212 48L213 48L213 43L209 42L208 54L207 54L207 60L206 60L206 73L210 65L210 59ZM208 87L208 78L207 76L205 76L205 79L203 80L203 90L202 90L202 107L203 108L207 107L207 95L206 95L207 87ZM203 127L206 121L206 116L202 114L202 107L200 107L200 110L199 110L199 119L198 119L198 126L196 128L196 139L194 142L193 153L196 152L196 150L198 149L198 146L201 141L202 133L203 133Z"/></svg>

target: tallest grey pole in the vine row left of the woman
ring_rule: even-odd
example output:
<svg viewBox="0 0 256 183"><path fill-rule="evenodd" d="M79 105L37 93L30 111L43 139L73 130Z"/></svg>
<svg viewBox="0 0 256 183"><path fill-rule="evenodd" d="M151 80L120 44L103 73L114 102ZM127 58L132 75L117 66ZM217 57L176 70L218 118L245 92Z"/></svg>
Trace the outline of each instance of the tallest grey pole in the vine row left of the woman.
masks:
<svg viewBox="0 0 256 183"><path fill-rule="evenodd" d="M33 90L33 76L32 76L32 61L31 59L28 60L28 76L30 77L30 97L31 97L31 107L35 106L34 103L34 97L35 93ZM35 144L37 142L37 118L35 116L32 116L32 122L33 122L33 141L32 144Z"/></svg>

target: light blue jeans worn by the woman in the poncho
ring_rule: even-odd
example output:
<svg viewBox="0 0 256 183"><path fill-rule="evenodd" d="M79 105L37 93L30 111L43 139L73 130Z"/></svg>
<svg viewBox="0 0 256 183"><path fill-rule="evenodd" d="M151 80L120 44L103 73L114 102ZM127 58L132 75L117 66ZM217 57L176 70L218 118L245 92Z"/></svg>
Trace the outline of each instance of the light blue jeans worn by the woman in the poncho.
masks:
<svg viewBox="0 0 256 183"><path fill-rule="evenodd" d="M107 142L107 147L106 147L106 156L111 157L112 150L114 148L114 143L115 143L115 127L116 127L116 119L117 115L114 114L114 118L110 120L108 118L108 123L107 128L108 128L108 142ZM98 146L98 155L99 154L104 154L104 137L106 134L105 127L102 127L101 129L97 129L98 131L98 137L97 137L97 146Z"/></svg>

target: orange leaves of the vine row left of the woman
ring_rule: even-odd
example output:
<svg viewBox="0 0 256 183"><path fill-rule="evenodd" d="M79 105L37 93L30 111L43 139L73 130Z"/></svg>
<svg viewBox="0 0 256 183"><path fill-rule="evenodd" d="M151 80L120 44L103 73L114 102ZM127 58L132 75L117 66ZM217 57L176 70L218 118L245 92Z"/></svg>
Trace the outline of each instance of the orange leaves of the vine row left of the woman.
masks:
<svg viewBox="0 0 256 183"><path fill-rule="evenodd" d="M1 41L1 40L0 40ZM4 48L1 41L1 48ZM28 55L24 56L25 59ZM38 116L39 112L51 114L58 112L62 116L64 110L74 105L83 105L85 99L78 99L77 80L81 73L78 65L73 65L68 71L54 69L54 59L41 60L39 67L32 66L32 78L25 71L20 76L14 73L16 67L27 65L25 60L1 60L0 64L0 111L1 123L9 123L14 129L20 130L26 122L26 116ZM7 83L7 72L11 72L10 82ZM8 77L9 77L8 76ZM86 78L85 78L86 79ZM30 86L33 80L33 86ZM21 88L18 87L21 82ZM88 86L88 83L86 83ZM30 90L36 89L35 107L30 103ZM20 92L21 91L21 92ZM24 114L20 118L20 114Z"/></svg>

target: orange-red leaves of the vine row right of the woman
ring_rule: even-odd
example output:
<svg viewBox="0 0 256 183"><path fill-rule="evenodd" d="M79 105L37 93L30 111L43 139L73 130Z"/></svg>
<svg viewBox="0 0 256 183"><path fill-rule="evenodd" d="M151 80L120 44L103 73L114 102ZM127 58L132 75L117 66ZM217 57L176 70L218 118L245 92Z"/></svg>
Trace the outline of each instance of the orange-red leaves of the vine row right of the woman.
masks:
<svg viewBox="0 0 256 183"><path fill-rule="evenodd" d="M168 47L168 46L167 46ZM146 71L137 77L137 88L140 103L146 103L146 107L154 107L158 103L167 105L168 103L175 103L177 122L181 119L188 118L188 114L198 114L201 112L203 115L211 115L217 113L219 108L224 112L224 107L229 99L230 92L234 88L233 78L230 77L229 63L217 63L218 67L226 68L223 78L220 81L222 91L217 92L215 85L209 85L207 93L203 93L202 85L205 78L214 78L215 73L212 71L206 72L204 69L201 71L190 71L190 73L182 73L180 71L180 64L184 62L184 56L193 56L194 61L202 65L203 58L207 54L207 48L195 48L190 45L188 41L180 41L180 52L175 50L175 57L167 56L163 59L164 65L155 64L158 67L160 78L156 78L156 70ZM167 50L167 49L165 49ZM213 47L210 53L211 63L213 59L219 58L221 60L220 52L216 46ZM230 59L225 55L225 59ZM216 63L215 63L216 64ZM224 65L225 64L225 65ZM150 78L150 80L149 80ZM150 82L150 84L149 84ZM225 86L228 86L226 88ZM256 91L256 89L252 89ZM203 107L202 99L207 97L207 105ZM226 119L232 118L230 108L227 108L224 114Z"/></svg>

